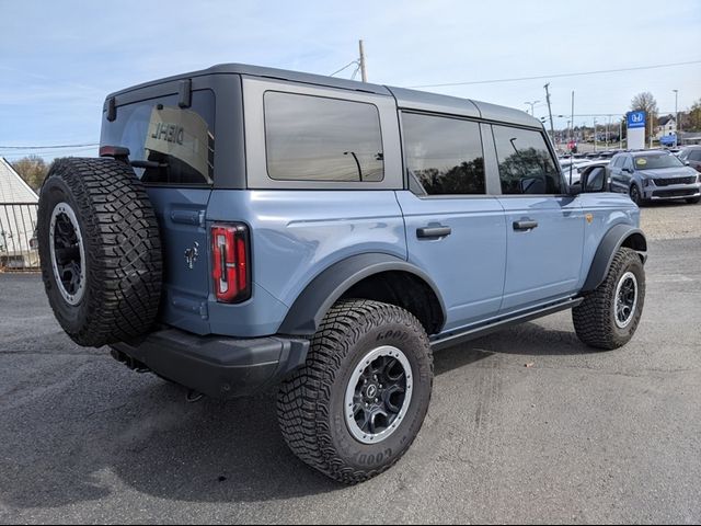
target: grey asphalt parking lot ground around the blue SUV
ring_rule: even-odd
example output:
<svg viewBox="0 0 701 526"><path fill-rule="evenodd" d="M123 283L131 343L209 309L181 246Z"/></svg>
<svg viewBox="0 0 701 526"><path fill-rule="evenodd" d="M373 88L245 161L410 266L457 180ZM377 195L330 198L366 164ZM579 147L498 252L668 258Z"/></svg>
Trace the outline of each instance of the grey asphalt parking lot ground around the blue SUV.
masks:
<svg viewBox="0 0 701 526"><path fill-rule="evenodd" d="M698 523L701 205L643 228L631 344L594 352L562 312L437 353L416 443L355 488L287 450L272 395L185 403L0 274L0 523Z"/></svg>

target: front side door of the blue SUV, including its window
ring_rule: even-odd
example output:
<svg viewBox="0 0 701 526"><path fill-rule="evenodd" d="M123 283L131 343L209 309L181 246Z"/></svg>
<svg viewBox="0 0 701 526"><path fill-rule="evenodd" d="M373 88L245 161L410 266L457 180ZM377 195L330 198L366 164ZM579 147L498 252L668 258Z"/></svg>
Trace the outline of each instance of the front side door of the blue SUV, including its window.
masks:
<svg viewBox="0 0 701 526"><path fill-rule="evenodd" d="M506 214L507 263L503 313L576 291L582 268L584 214L565 195L563 178L542 130L494 125Z"/></svg>

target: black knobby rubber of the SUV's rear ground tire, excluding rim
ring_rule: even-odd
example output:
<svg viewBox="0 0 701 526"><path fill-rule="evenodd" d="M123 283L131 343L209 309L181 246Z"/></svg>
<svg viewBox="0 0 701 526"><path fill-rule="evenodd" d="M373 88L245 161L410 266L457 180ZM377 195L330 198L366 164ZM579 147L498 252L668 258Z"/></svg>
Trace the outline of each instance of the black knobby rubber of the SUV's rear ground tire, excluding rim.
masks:
<svg viewBox="0 0 701 526"><path fill-rule="evenodd" d="M382 442L364 444L345 418L346 388L369 350L391 345L413 370L405 418ZM301 460L346 484L368 480L393 466L418 434L430 402L433 354L414 316L378 301L341 300L311 341L306 366L283 382L277 414L283 436Z"/></svg>

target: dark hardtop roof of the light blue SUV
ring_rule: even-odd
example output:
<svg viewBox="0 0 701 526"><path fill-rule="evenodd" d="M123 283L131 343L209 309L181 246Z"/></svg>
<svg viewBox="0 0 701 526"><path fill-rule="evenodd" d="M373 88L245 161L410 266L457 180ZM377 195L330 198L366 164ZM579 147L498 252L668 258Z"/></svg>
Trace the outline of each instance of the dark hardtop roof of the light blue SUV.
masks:
<svg viewBox="0 0 701 526"><path fill-rule="evenodd" d="M120 94L137 91L143 88L172 82L193 77L204 77L210 75L248 75L269 79L302 82L308 84L337 88L342 90L361 91L378 95L394 96L399 107L422 110L434 113L456 114L468 117L481 117L487 121L507 122L521 126L542 127L542 123L520 110L507 106L489 104L486 102L460 99L457 96L441 95L425 91L409 90L405 88L392 88L389 85L372 84L369 82L358 82L355 80L338 79L323 75L304 73L300 71L289 71L285 69L266 68L245 64L219 64L207 69L188 73L166 77L159 80L145 82L138 85L126 88L107 95L107 99Z"/></svg>

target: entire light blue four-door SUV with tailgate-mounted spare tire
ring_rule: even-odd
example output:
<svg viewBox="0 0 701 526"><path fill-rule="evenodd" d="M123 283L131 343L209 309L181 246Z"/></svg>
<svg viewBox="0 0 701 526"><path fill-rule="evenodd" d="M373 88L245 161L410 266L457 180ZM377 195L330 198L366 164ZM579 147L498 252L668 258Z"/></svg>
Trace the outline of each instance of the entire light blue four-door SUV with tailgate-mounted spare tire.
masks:
<svg viewBox="0 0 701 526"><path fill-rule="evenodd" d="M567 187L524 112L222 65L107 96L101 145L42 188L61 327L191 398L279 386L345 483L412 444L433 351L564 309L611 350L641 318L637 207L604 170Z"/></svg>

